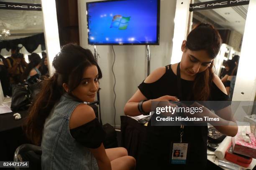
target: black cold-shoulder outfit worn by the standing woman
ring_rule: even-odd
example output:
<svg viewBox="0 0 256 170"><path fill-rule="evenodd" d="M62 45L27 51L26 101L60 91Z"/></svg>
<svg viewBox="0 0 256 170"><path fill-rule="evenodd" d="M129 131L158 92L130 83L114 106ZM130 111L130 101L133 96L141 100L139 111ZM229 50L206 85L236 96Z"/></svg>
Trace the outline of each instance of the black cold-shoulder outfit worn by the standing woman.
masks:
<svg viewBox="0 0 256 170"><path fill-rule="evenodd" d="M182 99L186 99L192 92L193 81L181 79ZM178 97L177 75L166 66L165 74L156 82L145 83L138 86L139 90L147 99L156 99L164 95ZM214 82L211 85L209 101L226 101L228 95L223 93ZM193 96L191 97L193 100ZM217 111L227 105L215 108ZM170 164L171 143L179 142L180 126L151 126L148 123L146 138L143 141L137 160L137 169L147 170L171 170L171 169L200 169L206 168L207 164L207 126L185 126L183 142L190 144L187 156L187 165Z"/></svg>

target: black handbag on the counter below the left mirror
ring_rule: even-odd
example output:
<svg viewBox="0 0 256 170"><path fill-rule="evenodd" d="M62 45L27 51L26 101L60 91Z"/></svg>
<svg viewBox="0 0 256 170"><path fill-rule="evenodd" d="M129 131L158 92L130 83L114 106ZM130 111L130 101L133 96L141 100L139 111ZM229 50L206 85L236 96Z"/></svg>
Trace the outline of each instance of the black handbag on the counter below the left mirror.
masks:
<svg viewBox="0 0 256 170"><path fill-rule="evenodd" d="M32 104L33 99L40 92L41 83L35 83L33 85L20 84L13 85L12 87L12 102L11 110L20 111L27 110Z"/></svg>

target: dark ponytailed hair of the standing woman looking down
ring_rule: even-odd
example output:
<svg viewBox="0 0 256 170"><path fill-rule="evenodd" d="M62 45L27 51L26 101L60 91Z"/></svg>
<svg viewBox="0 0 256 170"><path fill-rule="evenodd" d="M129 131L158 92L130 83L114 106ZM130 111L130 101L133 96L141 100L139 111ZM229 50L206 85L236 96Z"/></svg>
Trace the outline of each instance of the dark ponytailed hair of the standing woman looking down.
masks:
<svg viewBox="0 0 256 170"><path fill-rule="evenodd" d="M222 40L218 30L210 24L198 24L187 36L186 48L192 51L206 50L214 59L220 51ZM213 62L204 71L197 73L193 85L194 100L208 100L214 77Z"/></svg>

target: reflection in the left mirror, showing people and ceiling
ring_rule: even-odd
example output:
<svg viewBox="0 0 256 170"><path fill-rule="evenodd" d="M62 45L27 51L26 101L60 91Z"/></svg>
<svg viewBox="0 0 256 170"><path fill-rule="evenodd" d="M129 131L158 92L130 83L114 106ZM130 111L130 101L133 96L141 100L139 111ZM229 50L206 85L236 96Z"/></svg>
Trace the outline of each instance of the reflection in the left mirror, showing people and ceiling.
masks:
<svg viewBox="0 0 256 170"><path fill-rule="evenodd" d="M1 2L26 3L41 8L41 0ZM48 75L43 24L41 9L0 10L0 81L5 97L13 95L13 85L33 84L39 82L42 75Z"/></svg>

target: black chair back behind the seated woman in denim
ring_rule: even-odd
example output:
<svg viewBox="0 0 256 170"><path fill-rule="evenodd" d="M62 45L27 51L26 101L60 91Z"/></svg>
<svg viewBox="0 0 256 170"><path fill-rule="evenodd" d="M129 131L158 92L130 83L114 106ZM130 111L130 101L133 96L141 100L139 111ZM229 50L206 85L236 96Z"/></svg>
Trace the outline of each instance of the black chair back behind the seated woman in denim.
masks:
<svg viewBox="0 0 256 170"><path fill-rule="evenodd" d="M29 161L29 168L18 168L15 170L41 170L42 149L32 144L20 145L14 153L14 161Z"/></svg>

